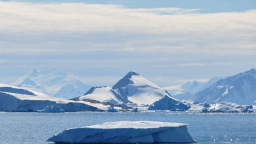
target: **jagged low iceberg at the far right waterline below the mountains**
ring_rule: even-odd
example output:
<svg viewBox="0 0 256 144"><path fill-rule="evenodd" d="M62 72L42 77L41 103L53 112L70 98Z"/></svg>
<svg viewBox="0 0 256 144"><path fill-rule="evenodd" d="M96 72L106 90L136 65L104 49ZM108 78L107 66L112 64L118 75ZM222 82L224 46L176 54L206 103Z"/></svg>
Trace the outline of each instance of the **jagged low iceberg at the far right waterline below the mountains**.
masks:
<svg viewBox="0 0 256 144"><path fill-rule="evenodd" d="M236 105L236 103L205 103L202 112L203 113L253 113L252 105Z"/></svg>

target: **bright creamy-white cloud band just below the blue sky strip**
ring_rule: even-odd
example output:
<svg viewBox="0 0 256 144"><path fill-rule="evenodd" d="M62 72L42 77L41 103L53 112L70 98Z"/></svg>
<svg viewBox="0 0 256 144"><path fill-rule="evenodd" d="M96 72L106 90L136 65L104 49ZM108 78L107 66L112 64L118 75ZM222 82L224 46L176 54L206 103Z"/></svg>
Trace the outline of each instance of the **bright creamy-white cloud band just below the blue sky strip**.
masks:
<svg viewBox="0 0 256 144"><path fill-rule="evenodd" d="M0 2L0 31L125 31L127 33L209 33L255 31L256 11L215 14L179 8L128 9L84 3ZM189 14L184 14L188 11ZM164 14L161 12L178 12ZM180 12L180 13L179 13ZM216 33L218 31L218 33ZM249 33L248 33L249 34ZM251 33L252 34L252 33Z"/></svg>

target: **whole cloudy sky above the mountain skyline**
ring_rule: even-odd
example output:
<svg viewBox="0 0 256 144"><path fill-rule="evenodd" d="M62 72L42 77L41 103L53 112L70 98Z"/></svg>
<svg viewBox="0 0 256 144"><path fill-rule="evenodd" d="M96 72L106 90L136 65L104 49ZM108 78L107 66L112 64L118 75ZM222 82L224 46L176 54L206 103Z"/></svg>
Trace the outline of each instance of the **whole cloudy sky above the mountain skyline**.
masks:
<svg viewBox="0 0 256 144"><path fill-rule="evenodd" d="M256 68L256 1L0 1L0 82L36 69L160 86Z"/></svg>

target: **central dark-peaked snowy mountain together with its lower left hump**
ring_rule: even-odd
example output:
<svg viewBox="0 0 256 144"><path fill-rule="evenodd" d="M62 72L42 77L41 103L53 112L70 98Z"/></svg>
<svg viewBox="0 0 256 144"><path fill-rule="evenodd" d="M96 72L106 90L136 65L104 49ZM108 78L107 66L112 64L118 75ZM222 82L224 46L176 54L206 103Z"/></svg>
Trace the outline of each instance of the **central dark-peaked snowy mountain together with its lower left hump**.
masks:
<svg viewBox="0 0 256 144"><path fill-rule="evenodd" d="M126 105L151 105L165 96L171 98L167 91L160 86L148 81L142 75L129 72L112 88L93 87L84 96L76 99L93 99L102 103ZM175 99L174 101L177 101Z"/></svg>

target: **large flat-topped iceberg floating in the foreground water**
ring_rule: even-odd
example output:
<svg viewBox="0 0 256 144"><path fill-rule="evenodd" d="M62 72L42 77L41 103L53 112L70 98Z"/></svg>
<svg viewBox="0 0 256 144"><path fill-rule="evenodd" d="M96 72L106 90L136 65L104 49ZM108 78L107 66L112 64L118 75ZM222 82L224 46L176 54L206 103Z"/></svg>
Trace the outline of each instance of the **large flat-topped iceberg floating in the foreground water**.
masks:
<svg viewBox="0 0 256 144"><path fill-rule="evenodd" d="M194 143L187 124L153 121L106 122L72 128L47 141L55 143Z"/></svg>

